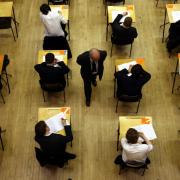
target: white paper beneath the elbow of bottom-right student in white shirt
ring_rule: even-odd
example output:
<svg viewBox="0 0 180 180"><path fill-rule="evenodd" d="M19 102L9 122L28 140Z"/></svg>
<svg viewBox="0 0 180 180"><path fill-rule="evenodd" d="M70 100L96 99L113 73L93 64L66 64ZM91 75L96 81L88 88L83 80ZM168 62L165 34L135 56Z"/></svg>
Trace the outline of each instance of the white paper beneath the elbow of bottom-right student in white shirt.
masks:
<svg viewBox="0 0 180 180"><path fill-rule="evenodd" d="M152 124L142 124L142 125L139 125L139 126L135 126L133 128L136 129L138 132L143 132L144 135L149 140L153 140L153 139L157 138Z"/></svg>

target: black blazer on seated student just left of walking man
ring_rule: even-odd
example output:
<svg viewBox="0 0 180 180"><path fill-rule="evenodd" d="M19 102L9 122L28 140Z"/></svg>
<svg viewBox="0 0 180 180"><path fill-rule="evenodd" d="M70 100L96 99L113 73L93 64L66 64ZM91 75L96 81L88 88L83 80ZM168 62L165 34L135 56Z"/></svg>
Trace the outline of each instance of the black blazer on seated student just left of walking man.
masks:
<svg viewBox="0 0 180 180"><path fill-rule="evenodd" d="M69 72L69 68L64 62L58 62L58 65L60 67L48 66L46 62L43 62L35 65L34 68L39 73L42 82L49 84L61 83L65 86L66 80L64 75Z"/></svg>

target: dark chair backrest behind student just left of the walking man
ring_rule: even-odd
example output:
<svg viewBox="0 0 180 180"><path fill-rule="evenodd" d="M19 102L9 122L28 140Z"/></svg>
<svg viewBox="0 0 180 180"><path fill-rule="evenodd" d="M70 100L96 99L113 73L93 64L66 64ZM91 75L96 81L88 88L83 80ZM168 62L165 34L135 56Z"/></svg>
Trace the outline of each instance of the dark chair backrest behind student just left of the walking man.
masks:
<svg viewBox="0 0 180 180"><path fill-rule="evenodd" d="M58 91L63 91L64 90L64 86L61 83L47 83L44 81L39 81L41 88L44 91L48 91L48 92L58 92Z"/></svg>

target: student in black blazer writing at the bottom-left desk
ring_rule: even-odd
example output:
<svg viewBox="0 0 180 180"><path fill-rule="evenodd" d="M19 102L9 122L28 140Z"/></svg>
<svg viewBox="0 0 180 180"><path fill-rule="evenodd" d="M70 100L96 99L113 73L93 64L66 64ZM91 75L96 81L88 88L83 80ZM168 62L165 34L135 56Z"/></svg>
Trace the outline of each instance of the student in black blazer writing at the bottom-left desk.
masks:
<svg viewBox="0 0 180 180"><path fill-rule="evenodd" d="M66 132L66 136L50 133L45 121L39 121L35 125L35 140L39 143L42 153L47 161L63 167L70 159L76 158L75 154L66 152L66 143L73 140L71 126L66 125L66 120L61 119ZM48 162L47 162L48 163Z"/></svg>

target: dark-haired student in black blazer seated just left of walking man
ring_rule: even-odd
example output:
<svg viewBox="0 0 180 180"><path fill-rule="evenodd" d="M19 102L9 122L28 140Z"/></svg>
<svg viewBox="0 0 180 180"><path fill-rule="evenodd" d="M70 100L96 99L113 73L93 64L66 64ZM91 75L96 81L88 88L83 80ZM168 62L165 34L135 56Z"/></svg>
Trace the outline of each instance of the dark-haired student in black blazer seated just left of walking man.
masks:
<svg viewBox="0 0 180 180"><path fill-rule="evenodd" d="M49 84L61 83L63 87L66 86L64 75L69 72L69 68L63 61L57 62L54 54L47 53L45 62L35 65L34 68L39 73L42 82Z"/></svg>

